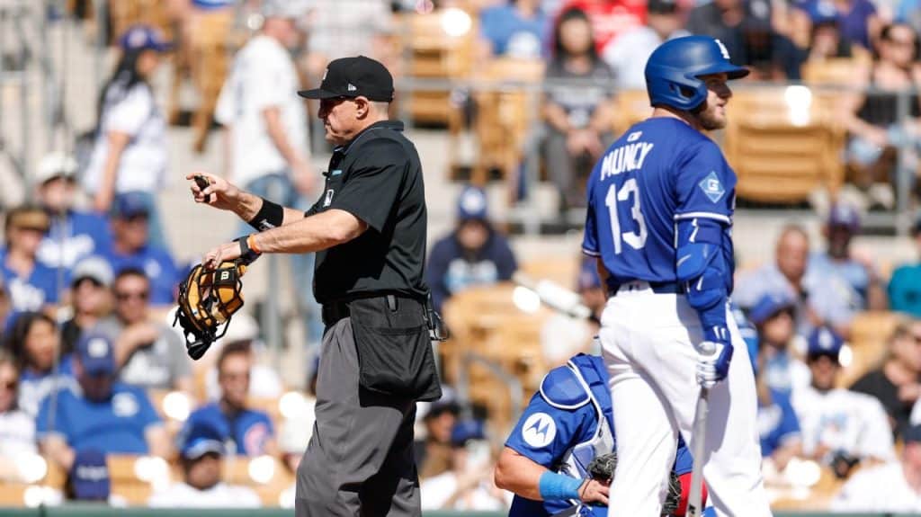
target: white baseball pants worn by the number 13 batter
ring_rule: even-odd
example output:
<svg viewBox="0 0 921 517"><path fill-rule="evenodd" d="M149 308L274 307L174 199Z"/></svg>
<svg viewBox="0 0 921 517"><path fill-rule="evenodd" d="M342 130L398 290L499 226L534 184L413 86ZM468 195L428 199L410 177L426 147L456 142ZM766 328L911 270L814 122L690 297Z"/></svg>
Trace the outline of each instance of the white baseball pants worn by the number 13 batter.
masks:
<svg viewBox="0 0 921 517"><path fill-rule="evenodd" d="M710 390L704 479L720 516L770 516L755 425L757 401L748 349L727 311L729 376ZM653 293L645 282L621 287L601 316L600 341L611 374L617 469L611 517L659 517L678 433L694 451L694 378L700 319L682 294Z"/></svg>

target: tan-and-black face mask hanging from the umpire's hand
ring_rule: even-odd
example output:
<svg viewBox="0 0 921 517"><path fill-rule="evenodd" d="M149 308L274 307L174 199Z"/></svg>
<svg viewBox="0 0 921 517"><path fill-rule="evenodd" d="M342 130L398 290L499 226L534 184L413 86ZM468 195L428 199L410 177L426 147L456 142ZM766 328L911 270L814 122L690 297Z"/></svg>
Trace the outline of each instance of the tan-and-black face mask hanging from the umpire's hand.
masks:
<svg viewBox="0 0 921 517"><path fill-rule="evenodd" d="M178 322L185 336L185 348L194 360L200 359L216 339L227 332L230 317L243 306L243 282L246 262L237 259L221 262L216 270L199 264L179 286Z"/></svg>

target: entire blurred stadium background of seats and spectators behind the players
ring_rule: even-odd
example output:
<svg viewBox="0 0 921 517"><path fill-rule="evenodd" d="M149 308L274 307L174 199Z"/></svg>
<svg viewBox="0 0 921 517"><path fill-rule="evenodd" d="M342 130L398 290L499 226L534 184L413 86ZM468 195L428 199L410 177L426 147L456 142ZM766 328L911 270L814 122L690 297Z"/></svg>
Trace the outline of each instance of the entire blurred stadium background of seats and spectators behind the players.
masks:
<svg viewBox="0 0 921 517"><path fill-rule="evenodd" d="M691 33L752 69L711 136L739 176L734 302L775 510L873 511L848 480L898 465L921 512L919 30L916 0L0 0L0 506L293 506L312 258L254 265L192 362L177 284L250 230L184 178L312 204L331 148L295 92L365 54L422 158L451 331L445 396L417 410L424 509L503 514L492 465L522 408L599 353L586 178L651 112L649 53Z"/></svg>

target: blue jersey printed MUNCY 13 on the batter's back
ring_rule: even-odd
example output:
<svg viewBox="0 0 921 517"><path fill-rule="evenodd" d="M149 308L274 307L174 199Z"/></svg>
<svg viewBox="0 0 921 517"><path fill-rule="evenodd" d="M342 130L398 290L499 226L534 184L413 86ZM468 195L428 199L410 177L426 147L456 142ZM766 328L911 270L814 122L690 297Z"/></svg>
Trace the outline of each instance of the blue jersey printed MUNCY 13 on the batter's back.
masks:
<svg viewBox="0 0 921 517"><path fill-rule="evenodd" d="M722 252L731 267L735 187L735 173L705 134L670 117L639 122L592 170L582 250L603 261L611 288L674 282L676 223L705 218L723 224Z"/></svg>

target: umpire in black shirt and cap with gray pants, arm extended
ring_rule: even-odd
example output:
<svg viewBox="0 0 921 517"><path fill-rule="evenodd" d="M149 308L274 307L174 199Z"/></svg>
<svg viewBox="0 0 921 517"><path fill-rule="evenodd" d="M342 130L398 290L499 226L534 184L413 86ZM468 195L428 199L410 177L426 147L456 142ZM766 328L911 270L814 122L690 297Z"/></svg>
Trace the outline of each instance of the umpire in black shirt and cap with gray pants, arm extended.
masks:
<svg viewBox="0 0 921 517"><path fill-rule="evenodd" d="M332 61L317 89L336 147L320 200L305 214L223 178L195 201L236 213L260 233L216 247L222 260L317 252L323 306L316 424L297 469L296 514L421 515L413 460L416 400L441 395L426 326L422 167L402 122L389 121L393 78L364 56ZM190 179L194 175L189 176Z"/></svg>

